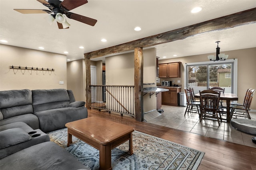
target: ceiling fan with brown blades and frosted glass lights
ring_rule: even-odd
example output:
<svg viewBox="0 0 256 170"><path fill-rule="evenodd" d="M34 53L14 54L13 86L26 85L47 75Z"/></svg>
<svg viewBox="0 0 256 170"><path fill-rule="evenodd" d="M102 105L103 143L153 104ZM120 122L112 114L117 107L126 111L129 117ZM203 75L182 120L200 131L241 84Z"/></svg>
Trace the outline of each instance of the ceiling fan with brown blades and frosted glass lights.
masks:
<svg viewBox="0 0 256 170"><path fill-rule="evenodd" d="M17 12L20 12L22 14L50 14L46 17L46 20L50 25L54 20L57 21L59 29L65 29L69 28L70 24L67 22L66 18L63 14L65 14L68 18L80 21L82 23L86 23L88 25L94 26L97 22L97 20L94 20L92 18L88 18L86 16L81 16L79 14L74 14L72 12L68 12L70 10L73 10L74 8L77 8L78 6L81 6L83 4L86 4L87 0L37 0L38 2L41 2L44 6L48 7L50 10L36 10L36 9L14 9Z"/></svg>

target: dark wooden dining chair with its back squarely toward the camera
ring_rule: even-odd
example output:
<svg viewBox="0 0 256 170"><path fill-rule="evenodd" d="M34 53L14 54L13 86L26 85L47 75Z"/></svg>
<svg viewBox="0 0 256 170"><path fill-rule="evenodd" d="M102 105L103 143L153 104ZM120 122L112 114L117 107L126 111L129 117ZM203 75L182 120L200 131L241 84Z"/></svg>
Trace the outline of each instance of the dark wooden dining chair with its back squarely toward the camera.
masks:
<svg viewBox="0 0 256 170"><path fill-rule="evenodd" d="M203 90L200 93L200 122L202 118L216 119L220 126L221 115L220 115L220 93L214 90Z"/></svg>

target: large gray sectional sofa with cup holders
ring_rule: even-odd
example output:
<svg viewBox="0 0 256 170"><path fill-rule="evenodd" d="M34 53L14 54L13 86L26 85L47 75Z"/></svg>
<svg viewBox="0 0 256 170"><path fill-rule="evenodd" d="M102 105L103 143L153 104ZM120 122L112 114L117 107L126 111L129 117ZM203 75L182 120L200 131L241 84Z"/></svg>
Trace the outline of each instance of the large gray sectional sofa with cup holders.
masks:
<svg viewBox="0 0 256 170"><path fill-rule="evenodd" d="M72 90L0 91L0 169L86 169L46 132L87 117Z"/></svg>

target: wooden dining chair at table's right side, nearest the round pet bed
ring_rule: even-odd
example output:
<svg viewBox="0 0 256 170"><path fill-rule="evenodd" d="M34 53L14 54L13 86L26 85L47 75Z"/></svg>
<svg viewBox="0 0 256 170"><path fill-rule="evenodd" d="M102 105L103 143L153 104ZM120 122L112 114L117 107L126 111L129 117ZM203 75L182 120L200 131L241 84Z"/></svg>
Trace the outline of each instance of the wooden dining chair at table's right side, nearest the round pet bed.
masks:
<svg viewBox="0 0 256 170"><path fill-rule="evenodd" d="M243 105L234 105L231 104L230 106L230 117L233 117L233 115L235 116L235 118L237 117L248 117L248 119L251 119L250 117L250 107L252 104L252 98L254 96L255 90L248 90L248 95L245 97L245 101Z"/></svg>

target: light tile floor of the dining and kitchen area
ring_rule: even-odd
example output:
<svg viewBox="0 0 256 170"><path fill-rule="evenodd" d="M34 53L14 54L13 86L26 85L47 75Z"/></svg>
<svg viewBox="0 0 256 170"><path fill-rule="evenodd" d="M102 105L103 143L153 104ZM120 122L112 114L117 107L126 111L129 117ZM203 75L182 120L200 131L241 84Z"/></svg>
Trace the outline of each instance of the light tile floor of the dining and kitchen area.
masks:
<svg viewBox="0 0 256 170"><path fill-rule="evenodd" d="M256 144L252 143L253 135L248 135L234 129L234 127L232 127L230 123L226 123L226 121L222 121L220 126L218 126L217 121L210 119L202 119L200 122L198 113L186 113L184 116L186 107L162 105L161 109L163 109L164 112L158 117L149 120L148 123L256 148ZM252 120L256 120L255 112L250 112L250 116Z"/></svg>

